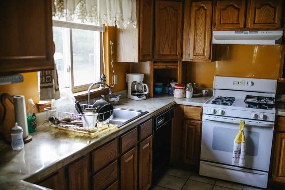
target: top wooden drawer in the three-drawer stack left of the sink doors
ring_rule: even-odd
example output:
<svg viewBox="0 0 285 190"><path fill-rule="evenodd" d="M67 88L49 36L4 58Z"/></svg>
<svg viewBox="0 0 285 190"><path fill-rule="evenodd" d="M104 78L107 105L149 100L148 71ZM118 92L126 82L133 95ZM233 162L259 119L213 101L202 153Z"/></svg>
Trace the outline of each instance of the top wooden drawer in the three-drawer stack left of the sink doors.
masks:
<svg viewBox="0 0 285 190"><path fill-rule="evenodd" d="M92 155L92 171L93 173L107 165L118 156L117 139L108 143L107 145L98 148L91 153Z"/></svg>

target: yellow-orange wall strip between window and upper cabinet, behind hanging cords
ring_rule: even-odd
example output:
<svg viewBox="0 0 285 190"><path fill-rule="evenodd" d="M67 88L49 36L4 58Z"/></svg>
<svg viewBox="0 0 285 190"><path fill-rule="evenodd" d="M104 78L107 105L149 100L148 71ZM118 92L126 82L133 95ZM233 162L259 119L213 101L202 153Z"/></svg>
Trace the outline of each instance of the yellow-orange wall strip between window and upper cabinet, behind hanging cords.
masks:
<svg viewBox="0 0 285 190"><path fill-rule="evenodd" d="M107 84L111 82L111 46L110 40L115 43L115 27L107 26L104 32L104 56ZM113 44L113 59L115 59L115 44ZM118 84L114 85L113 92L127 88L126 73L130 72L130 63L113 62L115 75L118 75Z"/></svg>

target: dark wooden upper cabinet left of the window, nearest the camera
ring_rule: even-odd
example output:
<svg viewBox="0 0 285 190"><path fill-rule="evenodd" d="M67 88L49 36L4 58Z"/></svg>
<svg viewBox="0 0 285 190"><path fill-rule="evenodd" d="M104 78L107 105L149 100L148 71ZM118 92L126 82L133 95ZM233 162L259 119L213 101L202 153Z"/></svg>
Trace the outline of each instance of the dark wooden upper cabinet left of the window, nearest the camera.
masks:
<svg viewBox="0 0 285 190"><path fill-rule="evenodd" d="M0 75L54 69L51 0L0 1Z"/></svg>

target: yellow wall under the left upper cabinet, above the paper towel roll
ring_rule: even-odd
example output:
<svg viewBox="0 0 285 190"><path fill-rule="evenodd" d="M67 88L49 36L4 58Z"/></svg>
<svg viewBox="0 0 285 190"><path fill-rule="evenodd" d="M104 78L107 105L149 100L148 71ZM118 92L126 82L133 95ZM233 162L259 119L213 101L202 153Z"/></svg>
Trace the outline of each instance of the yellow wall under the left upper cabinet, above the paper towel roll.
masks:
<svg viewBox="0 0 285 190"><path fill-rule="evenodd" d="M38 75L37 72L22 73L24 77L23 83L0 85L0 94L8 93L11 96L23 95L25 96L26 105L28 99L32 98L34 103L39 102L38 91ZM36 108L37 112L37 108ZM3 117L3 107L0 105L0 120Z"/></svg>

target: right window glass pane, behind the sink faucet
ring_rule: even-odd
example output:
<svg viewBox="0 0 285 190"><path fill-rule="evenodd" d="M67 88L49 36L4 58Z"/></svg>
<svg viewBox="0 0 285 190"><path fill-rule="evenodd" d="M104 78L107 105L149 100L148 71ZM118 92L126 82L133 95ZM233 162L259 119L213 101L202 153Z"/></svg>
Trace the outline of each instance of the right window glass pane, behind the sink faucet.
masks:
<svg viewBox="0 0 285 190"><path fill-rule="evenodd" d="M99 80L100 32L72 29L73 86Z"/></svg>

